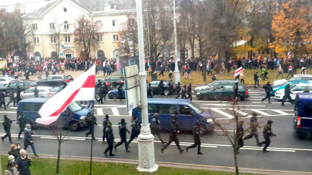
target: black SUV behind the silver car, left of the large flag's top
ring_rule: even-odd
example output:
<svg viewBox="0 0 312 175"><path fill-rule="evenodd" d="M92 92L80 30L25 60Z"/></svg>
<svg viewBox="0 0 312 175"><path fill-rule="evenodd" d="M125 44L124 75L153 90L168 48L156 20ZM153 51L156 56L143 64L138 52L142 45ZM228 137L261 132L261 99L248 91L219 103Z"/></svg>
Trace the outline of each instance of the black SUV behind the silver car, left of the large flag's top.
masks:
<svg viewBox="0 0 312 175"><path fill-rule="evenodd" d="M67 74L56 74L50 75L45 78L45 80L38 80L38 86L46 86L46 87L59 87L64 84L64 82L71 82L74 79Z"/></svg>

